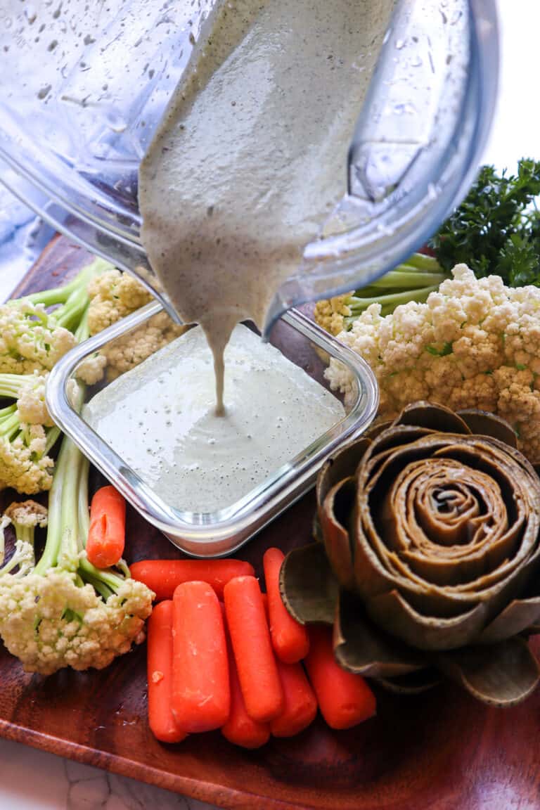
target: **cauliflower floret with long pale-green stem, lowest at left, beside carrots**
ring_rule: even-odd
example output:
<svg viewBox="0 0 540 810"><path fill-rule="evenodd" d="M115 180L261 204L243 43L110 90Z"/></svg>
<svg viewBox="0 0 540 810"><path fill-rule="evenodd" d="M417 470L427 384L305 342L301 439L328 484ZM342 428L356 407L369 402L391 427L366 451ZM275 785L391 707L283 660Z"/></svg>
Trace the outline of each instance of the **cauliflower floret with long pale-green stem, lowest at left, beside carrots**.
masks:
<svg viewBox="0 0 540 810"><path fill-rule="evenodd" d="M0 569L0 636L25 671L101 669L144 638L154 594L130 578L125 564L114 570L91 565L87 533L88 462L64 437L40 560L28 565L30 542L21 536L20 548ZM22 576L12 573L17 566Z"/></svg>

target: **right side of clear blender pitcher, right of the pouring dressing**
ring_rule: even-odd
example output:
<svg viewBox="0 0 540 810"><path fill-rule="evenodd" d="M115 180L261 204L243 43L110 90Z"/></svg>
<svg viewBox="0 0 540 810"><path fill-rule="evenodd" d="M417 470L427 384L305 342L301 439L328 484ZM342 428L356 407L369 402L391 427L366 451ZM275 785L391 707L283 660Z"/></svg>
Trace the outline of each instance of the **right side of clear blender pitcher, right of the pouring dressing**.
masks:
<svg viewBox="0 0 540 810"><path fill-rule="evenodd" d="M285 310L372 283L436 232L478 169L498 66L495 0L398 2L349 150L347 194L274 297L265 335Z"/></svg>

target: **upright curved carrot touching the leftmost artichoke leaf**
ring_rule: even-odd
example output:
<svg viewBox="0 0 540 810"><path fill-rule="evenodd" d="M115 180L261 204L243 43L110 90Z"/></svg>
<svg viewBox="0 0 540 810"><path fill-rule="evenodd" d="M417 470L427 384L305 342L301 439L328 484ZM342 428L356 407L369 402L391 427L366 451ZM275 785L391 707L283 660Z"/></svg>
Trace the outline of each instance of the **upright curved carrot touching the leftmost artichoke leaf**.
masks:
<svg viewBox="0 0 540 810"><path fill-rule="evenodd" d="M285 555L279 548L268 548L262 558L265 569L270 634L274 652L284 663L296 663L308 654L308 629L293 619L279 593L279 570Z"/></svg>

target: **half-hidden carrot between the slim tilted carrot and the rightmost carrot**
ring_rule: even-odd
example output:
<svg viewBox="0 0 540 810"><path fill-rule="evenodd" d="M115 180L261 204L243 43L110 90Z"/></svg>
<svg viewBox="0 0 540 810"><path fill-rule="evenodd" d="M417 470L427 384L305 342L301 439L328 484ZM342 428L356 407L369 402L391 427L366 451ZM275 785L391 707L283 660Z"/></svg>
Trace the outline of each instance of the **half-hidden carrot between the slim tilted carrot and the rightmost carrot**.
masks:
<svg viewBox="0 0 540 810"><path fill-rule="evenodd" d="M270 731L274 737L292 737L313 723L317 697L301 663L278 661L278 671L285 702L283 712L270 723Z"/></svg>

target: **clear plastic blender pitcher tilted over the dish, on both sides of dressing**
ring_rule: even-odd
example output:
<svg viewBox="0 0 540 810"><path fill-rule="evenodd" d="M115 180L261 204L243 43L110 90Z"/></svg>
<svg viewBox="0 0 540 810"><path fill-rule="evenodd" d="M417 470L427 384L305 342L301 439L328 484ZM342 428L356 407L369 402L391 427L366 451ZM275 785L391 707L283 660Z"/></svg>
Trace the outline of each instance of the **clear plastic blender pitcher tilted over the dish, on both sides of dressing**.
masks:
<svg viewBox="0 0 540 810"><path fill-rule="evenodd" d="M4 0L0 9L0 181L57 230L139 275L166 307L139 238L138 164L212 7ZM477 168L495 104L495 0L398 0L376 46L349 193L306 245L267 326L401 262Z"/></svg>

